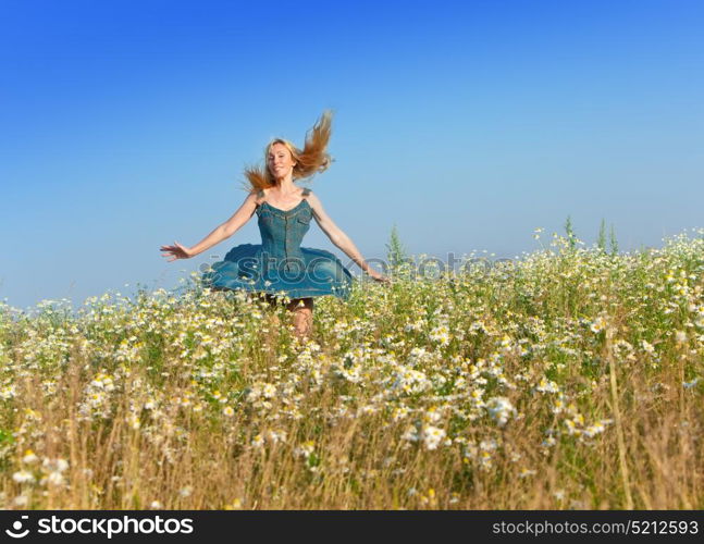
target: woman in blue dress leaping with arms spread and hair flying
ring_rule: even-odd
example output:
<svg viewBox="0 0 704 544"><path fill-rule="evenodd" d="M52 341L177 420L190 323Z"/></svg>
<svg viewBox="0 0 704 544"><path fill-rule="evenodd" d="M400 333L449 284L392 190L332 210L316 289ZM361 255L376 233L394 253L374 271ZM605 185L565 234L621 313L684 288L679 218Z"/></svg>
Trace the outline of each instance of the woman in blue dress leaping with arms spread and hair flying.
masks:
<svg viewBox="0 0 704 544"><path fill-rule="evenodd" d="M325 112L306 137L302 150L285 139L272 140L264 151L263 171L245 171L249 196L232 218L190 248L177 242L161 246L162 256L172 257L169 262L195 257L235 234L256 212L262 243L231 249L223 261L203 274L203 284L213 289L261 293L270 304L275 304L275 294L283 293L291 299L287 309L294 313L295 332L301 339L312 332L313 299L326 295L347 299L351 287L349 270L333 254L300 247L311 218L373 280L390 283L365 261L351 239L325 213L320 199L294 184L294 180L328 169L330 133L331 114Z"/></svg>

